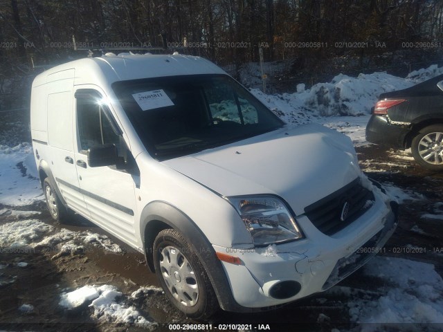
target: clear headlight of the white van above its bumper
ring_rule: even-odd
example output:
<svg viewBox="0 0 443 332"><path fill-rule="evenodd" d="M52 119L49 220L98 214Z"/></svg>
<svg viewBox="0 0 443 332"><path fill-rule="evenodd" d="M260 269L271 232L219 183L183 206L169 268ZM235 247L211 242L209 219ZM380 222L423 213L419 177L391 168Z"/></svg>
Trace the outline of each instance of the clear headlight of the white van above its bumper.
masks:
<svg viewBox="0 0 443 332"><path fill-rule="evenodd" d="M273 196L228 197L242 218L255 246L268 246L303 237L280 199Z"/></svg>

